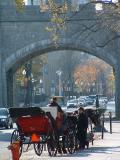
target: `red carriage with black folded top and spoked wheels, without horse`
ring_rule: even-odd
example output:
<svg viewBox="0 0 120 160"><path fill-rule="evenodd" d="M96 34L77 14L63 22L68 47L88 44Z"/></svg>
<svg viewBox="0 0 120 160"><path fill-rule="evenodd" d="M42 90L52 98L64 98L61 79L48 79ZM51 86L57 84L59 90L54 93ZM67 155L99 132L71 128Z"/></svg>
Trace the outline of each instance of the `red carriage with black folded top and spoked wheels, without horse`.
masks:
<svg viewBox="0 0 120 160"><path fill-rule="evenodd" d="M10 116L17 125L17 129L13 131L11 136L11 144L19 141L20 155L25 145L27 145L26 150L28 150L31 144L33 144L35 153L40 156L43 146L46 144L49 155L55 156L61 144L60 136L62 136L62 140L64 139L65 142L63 147L67 148L69 153L74 152L75 136L70 126L63 130L57 124L59 120L55 114L56 109L53 109L53 115L50 114L52 111L50 107L49 111L48 107L44 107L44 110L39 107L9 109ZM60 132L61 130L62 132Z"/></svg>

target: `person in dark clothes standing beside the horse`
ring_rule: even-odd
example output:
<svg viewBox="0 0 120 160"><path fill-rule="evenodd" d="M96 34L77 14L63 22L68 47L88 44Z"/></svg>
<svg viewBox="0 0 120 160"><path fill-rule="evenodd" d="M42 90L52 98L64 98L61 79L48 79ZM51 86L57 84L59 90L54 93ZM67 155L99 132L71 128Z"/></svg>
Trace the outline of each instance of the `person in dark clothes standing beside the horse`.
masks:
<svg viewBox="0 0 120 160"><path fill-rule="evenodd" d="M77 122L77 136L79 140L79 148L85 149L87 141L88 116L83 107L79 108L78 122Z"/></svg>

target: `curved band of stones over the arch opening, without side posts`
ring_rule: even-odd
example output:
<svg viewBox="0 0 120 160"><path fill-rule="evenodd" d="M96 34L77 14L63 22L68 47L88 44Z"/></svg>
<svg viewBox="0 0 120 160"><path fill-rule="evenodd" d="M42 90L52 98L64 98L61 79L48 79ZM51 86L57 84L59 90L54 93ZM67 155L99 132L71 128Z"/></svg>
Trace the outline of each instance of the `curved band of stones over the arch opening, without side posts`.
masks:
<svg viewBox="0 0 120 160"><path fill-rule="evenodd" d="M21 63L21 61L25 62L27 59L31 59L40 54L44 54L44 53L55 51L55 50L83 51L102 59L103 61L108 63L110 66L116 65L115 57L110 55L109 53L106 53L105 56L103 56L103 54L101 54L100 49L99 50L97 48L93 49L92 47L87 46L86 44L84 46L83 45L81 46L79 43L76 43L76 42L74 43L72 39L60 39L58 43L58 48L55 48L52 40L49 39L49 40L41 40L41 41L32 43L16 51L14 54L9 56L5 60L5 70L8 71L13 66L17 67Z"/></svg>

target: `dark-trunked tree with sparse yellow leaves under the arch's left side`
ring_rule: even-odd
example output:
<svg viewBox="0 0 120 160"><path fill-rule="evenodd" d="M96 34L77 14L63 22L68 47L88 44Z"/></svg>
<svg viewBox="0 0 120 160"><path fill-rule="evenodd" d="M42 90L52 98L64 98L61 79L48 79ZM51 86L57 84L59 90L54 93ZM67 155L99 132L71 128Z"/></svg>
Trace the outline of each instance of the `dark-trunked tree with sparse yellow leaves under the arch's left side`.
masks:
<svg viewBox="0 0 120 160"><path fill-rule="evenodd" d="M40 79L43 78L43 66L46 63L47 55L44 54L30 61L27 61L16 71L16 84L18 86L17 88L19 88L19 90L24 89L25 106L30 106L32 103L33 87L39 86Z"/></svg>

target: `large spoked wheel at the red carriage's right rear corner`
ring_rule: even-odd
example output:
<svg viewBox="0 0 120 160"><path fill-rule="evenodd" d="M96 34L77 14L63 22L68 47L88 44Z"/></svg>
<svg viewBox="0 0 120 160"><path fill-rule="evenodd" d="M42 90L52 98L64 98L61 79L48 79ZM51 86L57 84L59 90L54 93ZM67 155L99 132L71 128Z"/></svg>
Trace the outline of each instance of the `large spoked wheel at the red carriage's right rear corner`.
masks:
<svg viewBox="0 0 120 160"><path fill-rule="evenodd" d="M57 154L57 138L56 134L53 131L53 133L50 135L48 141L47 141L47 148L49 156L56 156Z"/></svg>

